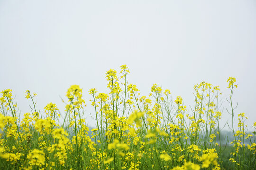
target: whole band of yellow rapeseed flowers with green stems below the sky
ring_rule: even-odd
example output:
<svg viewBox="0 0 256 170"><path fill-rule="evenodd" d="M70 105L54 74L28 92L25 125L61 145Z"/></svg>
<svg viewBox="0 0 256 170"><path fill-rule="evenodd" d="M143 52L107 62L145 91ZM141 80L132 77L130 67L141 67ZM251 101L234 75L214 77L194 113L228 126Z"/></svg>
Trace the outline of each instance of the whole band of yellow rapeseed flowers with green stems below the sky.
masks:
<svg viewBox="0 0 256 170"><path fill-rule="evenodd" d="M206 82L195 85L195 105L187 107L181 96L173 100L170 90L157 84L152 85L149 96L142 96L136 85L128 84L128 66L122 65L119 73L107 71L109 92L89 90L95 111L93 129L87 127L89 114L78 85L67 90L68 104L62 115L54 103L48 103L43 113L38 111L36 94L27 90L25 97L33 106L23 119L18 116L12 90L3 90L0 169L256 169L256 133L247 133L245 113L235 114L231 105L233 138L221 135L219 121L224 112L219 107L219 86ZM236 79L229 77L227 82L233 94ZM229 100L232 103L232 95Z"/></svg>

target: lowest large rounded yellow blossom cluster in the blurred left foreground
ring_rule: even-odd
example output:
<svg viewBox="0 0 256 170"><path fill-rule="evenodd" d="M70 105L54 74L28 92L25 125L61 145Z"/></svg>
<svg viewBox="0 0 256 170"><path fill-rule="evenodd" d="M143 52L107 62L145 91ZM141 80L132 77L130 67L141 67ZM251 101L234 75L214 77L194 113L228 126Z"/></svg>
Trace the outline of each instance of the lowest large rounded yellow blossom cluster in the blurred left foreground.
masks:
<svg viewBox="0 0 256 170"><path fill-rule="evenodd" d="M44 165L45 164L45 153L41 150L38 149L33 149L28 155L27 159L30 160L29 164L32 165L37 165L39 166L40 164Z"/></svg>

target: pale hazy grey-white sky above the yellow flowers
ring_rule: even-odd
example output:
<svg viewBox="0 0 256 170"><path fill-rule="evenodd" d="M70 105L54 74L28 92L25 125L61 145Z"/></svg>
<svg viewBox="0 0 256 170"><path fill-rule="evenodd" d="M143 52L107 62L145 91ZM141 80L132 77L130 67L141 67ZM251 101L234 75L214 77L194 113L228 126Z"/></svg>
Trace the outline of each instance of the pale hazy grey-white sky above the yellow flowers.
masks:
<svg viewBox="0 0 256 170"><path fill-rule="evenodd" d="M0 91L12 89L21 114L37 93L37 109L57 104L64 116L70 85L83 88L90 113L97 88L109 93L106 71L126 64L128 82L148 95L152 84L193 105L194 85L223 92L230 122L227 78L237 79L238 107L256 121L255 0L0 0Z"/></svg>

